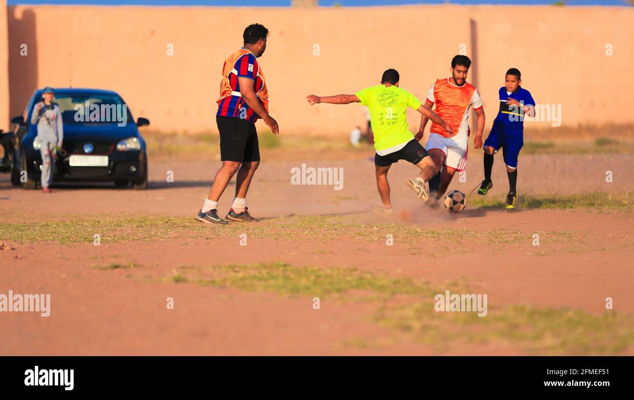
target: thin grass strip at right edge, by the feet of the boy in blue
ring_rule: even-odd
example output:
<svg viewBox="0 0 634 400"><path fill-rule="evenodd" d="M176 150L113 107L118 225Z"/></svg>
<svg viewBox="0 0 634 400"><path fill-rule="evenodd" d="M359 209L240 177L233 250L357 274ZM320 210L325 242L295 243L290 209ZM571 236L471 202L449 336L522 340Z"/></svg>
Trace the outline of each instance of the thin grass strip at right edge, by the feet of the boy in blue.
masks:
<svg viewBox="0 0 634 400"><path fill-rule="evenodd" d="M470 199L469 205L478 208L504 208L506 196ZM584 193L570 195L522 195L518 199L522 208L585 208L596 211L633 211L634 194Z"/></svg>

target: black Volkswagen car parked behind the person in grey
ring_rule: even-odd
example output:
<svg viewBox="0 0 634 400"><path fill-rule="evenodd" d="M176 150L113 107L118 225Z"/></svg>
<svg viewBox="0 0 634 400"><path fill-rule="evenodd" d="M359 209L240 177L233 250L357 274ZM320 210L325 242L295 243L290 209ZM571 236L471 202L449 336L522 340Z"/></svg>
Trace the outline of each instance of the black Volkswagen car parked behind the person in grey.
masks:
<svg viewBox="0 0 634 400"><path fill-rule="evenodd" d="M11 119L11 183L36 189L41 179L41 144L36 141L37 124L30 123L42 89L31 96L21 116ZM55 182L114 182L117 187L146 189L148 157L138 127L150 125L133 116L124 100L113 91L100 89L55 89L63 121L62 151L53 168ZM7 146L5 146L7 147ZM28 178L24 178L26 171Z"/></svg>

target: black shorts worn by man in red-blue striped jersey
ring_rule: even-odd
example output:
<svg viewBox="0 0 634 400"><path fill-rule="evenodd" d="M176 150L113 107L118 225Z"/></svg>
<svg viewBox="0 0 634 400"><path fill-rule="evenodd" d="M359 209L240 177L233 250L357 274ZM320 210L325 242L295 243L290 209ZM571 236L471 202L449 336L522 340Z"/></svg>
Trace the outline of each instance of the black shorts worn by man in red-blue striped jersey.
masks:
<svg viewBox="0 0 634 400"><path fill-rule="evenodd" d="M260 161L256 124L235 116L216 116L222 161Z"/></svg>

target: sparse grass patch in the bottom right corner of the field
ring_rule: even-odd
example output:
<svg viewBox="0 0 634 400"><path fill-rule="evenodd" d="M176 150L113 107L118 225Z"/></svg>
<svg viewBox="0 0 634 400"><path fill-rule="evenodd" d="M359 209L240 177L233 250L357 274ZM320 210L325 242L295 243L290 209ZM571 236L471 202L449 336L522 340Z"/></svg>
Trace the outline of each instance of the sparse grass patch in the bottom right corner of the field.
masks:
<svg viewBox="0 0 634 400"><path fill-rule="evenodd" d="M375 322L446 348L453 341L510 344L527 354L619 354L634 345L634 318L606 311L511 304L476 312L436 312L433 302L384 306Z"/></svg>

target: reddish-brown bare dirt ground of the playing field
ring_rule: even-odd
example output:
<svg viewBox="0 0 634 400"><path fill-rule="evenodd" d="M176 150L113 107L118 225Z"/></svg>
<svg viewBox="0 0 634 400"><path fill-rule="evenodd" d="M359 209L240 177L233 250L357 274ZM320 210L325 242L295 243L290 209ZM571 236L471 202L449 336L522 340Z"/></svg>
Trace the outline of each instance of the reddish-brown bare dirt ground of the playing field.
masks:
<svg viewBox="0 0 634 400"><path fill-rule="evenodd" d="M626 329L620 347L605 350L598 343L603 339L590 339L585 347L557 352L544 344L548 335L573 332L574 327L549 331L538 340L540 346L531 346L526 337L497 337L495 328L484 340L479 334L489 329L484 325L458 325L470 332L461 336L459 330L443 325L448 320L437 325L433 313L422 329L403 328L402 323L394 328L394 323L385 323L392 317L377 313L384 313L387 303L399 303L398 293L382 303L373 297L358 301L354 291L336 296L326 291L320 296L320 309L314 309L310 290L288 295L174 279L181 270L230 264L287 263L323 271L356 268L373 277L425 282L441 293L456 287L455 282L467 282L469 293L488 295L492 314L522 305L579 311L590 321L618 313L629 323L634 315L631 213L507 213L470 207L474 194L465 211L451 215L442 208L425 208L415 198L404 183L415 176L415 168L401 162L389 173L395 212L376 215L369 212L380 204L371 158L303 162L342 167L343 189L291 185L291 168L302 162L264 158L247 199L252 214L264 220L256 230L244 228L247 246L240 245L240 227L198 224L205 227L202 230L195 222L186 225L202 206L219 161L151 162L147 191L58 185L53 194L45 195L13 188L8 175L0 175L0 222L5 228L17 223L32 228L50 221L85 220L94 225L164 217L184 224L179 234L150 239L134 239L133 229L133 239L109 240L115 231L104 231L100 246L92 239L60 243L48 236L30 241L0 237L13 247L0 251L0 293L51 294L51 315L46 318L39 313L0 313L0 354L634 354L633 325L619 325ZM466 182L456 176L450 189L474 189L482 179L481 162L477 156L470 158ZM631 193L633 165L634 156L628 154L524 156L519 190L526 195ZM607 171L613 182L605 182ZM174 182L166 181L170 172ZM496 158L495 186L489 196L507 191L505 175L501 158ZM234 188L232 182L221 197L223 215ZM302 216L314 216L313 225L294 219ZM294 233L284 234L280 221L290 221ZM349 230L331 234L330 222ZM386 234L392 230L394 244L386 246ZM98 228L94 232L99 233ZM539 246L534 246L534 234L540 235ZM93 231L87 235L92 238ZM107 267L113 263L124 267ZM174 299L174 309L166 307L167 297ZM605 308L606 297L613 299L614 309ZM513 318L524 321L523 316ZM421 335L412 335L450 331L455 337L446 343L442 337L421 340ZM592 332L598 335L598 330Z"/></svg>

